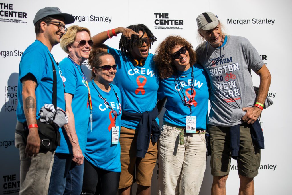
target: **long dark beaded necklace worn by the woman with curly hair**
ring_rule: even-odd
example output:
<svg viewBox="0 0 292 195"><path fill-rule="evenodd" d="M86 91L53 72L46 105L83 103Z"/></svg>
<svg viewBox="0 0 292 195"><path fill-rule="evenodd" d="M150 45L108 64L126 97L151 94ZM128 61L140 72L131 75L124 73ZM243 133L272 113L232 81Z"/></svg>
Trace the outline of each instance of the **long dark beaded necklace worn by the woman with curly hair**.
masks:
<svg viewBox="0 0 292 195"><path fill-rule="evenodd" d="M178 81L176 81L176 75L177 75L177 72L174 74L175 89L178 92L178 95L180 96L180 100L182 101L183 105L190 108L190 112L191 112L191 116L192 116L192 105L193 105L192 101L194 100L193 99L193 97L194 97L194 72L193 72L193 66L192 66L192 73L191 73L191 75L192 75L192 84L191 84L191 94L190 94L189 101L187 101L187 96L184 94L181 85L180 85L180 90L178 90L178 83L180 84L180 80L179 80L179 77L178 77Z"/></svg>

